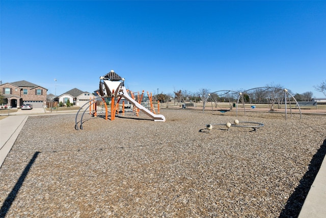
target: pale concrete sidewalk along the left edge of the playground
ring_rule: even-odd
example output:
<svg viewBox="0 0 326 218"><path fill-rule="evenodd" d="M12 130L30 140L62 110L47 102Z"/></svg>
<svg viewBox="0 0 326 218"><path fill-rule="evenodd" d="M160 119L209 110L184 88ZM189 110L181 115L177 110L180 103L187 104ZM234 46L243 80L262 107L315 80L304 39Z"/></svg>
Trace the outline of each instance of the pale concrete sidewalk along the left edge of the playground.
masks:
<svg viewBox="0 0 326 218"><path fill-rule="evenodd" d="M28 115L14 115L0 120L0 168L27 118Z"/></svg>

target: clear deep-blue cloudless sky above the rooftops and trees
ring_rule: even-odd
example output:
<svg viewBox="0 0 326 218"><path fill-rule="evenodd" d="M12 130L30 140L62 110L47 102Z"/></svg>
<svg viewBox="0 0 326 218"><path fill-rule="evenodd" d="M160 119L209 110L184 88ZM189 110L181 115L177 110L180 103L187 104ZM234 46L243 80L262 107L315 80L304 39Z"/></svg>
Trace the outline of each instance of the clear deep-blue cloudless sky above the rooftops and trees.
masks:
<svg viewBox="0 0 326 218"><path fill-rule="evenodd" d="M93 92L114 69L132 91L279 84L325 98L313 86L326 80L326 1L0 4L3 83Z"/></svg>

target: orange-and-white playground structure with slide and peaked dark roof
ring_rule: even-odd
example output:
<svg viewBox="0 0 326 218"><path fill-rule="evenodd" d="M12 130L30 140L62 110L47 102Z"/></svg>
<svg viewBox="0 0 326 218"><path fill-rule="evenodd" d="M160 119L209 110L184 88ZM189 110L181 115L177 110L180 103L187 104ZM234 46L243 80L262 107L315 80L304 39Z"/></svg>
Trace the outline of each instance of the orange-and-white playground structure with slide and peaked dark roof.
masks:
<svg viewBox="0 0 326 218"><path fill-rule="evenodd" d="M116 117L116 114L119 113L119 106L120 101L122 101L122 115L124 115L125 112L125 101L133 105L133 111L139 116L139 112L142 111L145 114L147 114L149 117L151 117L155 122L165 122L166 118L164 115L156 114L154 106L152 104L152 93L148 94L148 99L150 102L150 110L144 107L141 104L142 98L144 96L144 91L142 95L138 95L138 100L134 100L133 92L128 91L124 86L125 79L120 77L114 70L111 70L108 72L108 74L100 77L100 83L99 83L99 92L98 96L96 98L90 99L87 103L85 103L80 109L78 110L76 117L75 117L75 129L78 130L83 129L83 117L86 113L86 111L89 110L90 114L93 114L93 116L97 116L97 102L103 101L104 110L105 110L105 119L108 117L108 108L106 105L105 98L111 98L111 120L114 120ZM87 106L88 105L88 106ZM77 116L79 112L85 107L87 108L82 113L82 116L80 118L80 126L78 128L78 121ZM159 113L159 102L157 102L157 113Z"/></svg>

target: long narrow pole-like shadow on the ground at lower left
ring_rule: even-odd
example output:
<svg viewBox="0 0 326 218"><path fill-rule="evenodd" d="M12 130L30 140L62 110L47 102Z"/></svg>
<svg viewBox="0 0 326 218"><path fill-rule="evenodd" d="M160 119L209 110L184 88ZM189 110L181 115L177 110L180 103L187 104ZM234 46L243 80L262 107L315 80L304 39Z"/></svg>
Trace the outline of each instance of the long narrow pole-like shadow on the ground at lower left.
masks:
<svg viewBox="0 0 326 218"><path fill-rule="evenodd" d="M19 179L17 180L15 186L13 187L11 192L9 193L8 197L6 198L6 200L4 201L4 204L2 205L2 207L0 209L0 217L5 217L6 214L8 213L13 201L15 200L15 198L17 196L17 193L18 193L19 189L22 186L22 183L24 182L26 176L30 172L30 169L31 169L33 163L35 162L37 156L39 155L39 153L41 153L41 152L35 152L32 159L26 165L24 171L21 173L21 175L20 175Z"/></svg>

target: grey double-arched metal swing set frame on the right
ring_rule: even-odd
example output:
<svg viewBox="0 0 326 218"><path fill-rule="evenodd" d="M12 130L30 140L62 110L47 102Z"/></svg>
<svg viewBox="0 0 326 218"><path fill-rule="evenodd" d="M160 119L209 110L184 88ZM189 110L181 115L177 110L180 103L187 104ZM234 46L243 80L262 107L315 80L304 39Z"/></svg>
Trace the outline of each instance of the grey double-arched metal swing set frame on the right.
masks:
<svg viewBox="0 0 326 218"><path fill-rule="evenodd" d="M236 113L235 113L236 116L237 116L238 115L238 104L239 104L240 97L243 96L243 94L245 94L245 93L247 93L247 92L249 92L251 90L254 90L254 89L264 89L263 91L273 91L273 90L284 91L285 118L287 119L287 102L289 102L289 104L290 104L290 113L291 113L291 117L292 117L291 101L289 99L289 95L290 95L293 98L293 100L295 101L295 105L298 107L299 112L300 112L300 119L302 119L302 113L301 113L300 105L297 103L294 96L290 92L288 92L288 90L286 88L282 89L282 88L276 88L276 87L257 87L257 88L248 89L248 90L243 91L243 92L232 91L232 90L220 90L220 91L212 92L212 93L208 94L207 98L205 99L205 102L204 102L204 105L203 105L203 113L204 113L204 110L205 110L206 102L207 102L208 98L210 98L211 94L216 93L216 92L226 91L226 93L223 93L223 95L228 94L229 92L232 92L233 94L236 94L236 93L238 94L238 99L237 99L237 104L236 104ZM242 104L243 104L243 109L244 109L244 115L246 115L246 107L244 107L244 101L242 101ZM212 106L212 108L213 108L213 106Z"/></svg>

